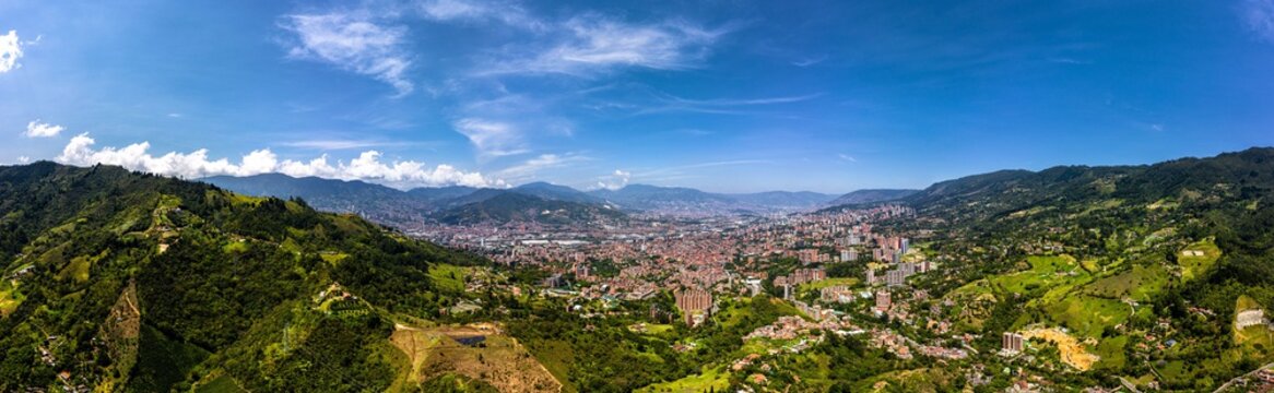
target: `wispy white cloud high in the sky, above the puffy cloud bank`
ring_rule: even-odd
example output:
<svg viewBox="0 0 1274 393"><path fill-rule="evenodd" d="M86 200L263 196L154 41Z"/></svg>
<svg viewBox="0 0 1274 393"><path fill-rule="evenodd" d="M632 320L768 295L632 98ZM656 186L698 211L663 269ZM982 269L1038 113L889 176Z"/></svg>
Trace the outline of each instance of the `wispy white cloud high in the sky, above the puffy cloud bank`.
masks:
<svg viewBox="0 0 1274 393"><path fill-rule="evenodd" d="M412 93L412 60L404 48L405 27L383 27L355 13L289 15L280 27L297 42L288 57L326 62L387 83L399 95Z"/></svg>

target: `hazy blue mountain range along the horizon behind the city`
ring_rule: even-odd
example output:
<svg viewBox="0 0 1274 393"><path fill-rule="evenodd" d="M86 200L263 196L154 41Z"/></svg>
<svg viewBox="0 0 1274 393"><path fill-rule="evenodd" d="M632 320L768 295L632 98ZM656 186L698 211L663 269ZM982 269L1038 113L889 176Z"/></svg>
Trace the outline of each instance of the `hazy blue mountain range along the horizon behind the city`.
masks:
<svg viewBox="0 0 1274 393"><path fill-rule="evenodd" d="M829 205L870 203L906 196L906 190L860 190L845 196L817 192L771 191L758 193L712 193L684 187L629 184L618 190L578 191L545 182L512 188L464 186L420 187L400 191L361 181L283 174L210 177L218 187L252 196L299 197L325 211L357 212L390 225L423 221L494 223L530 220L544 211L561 211L547 223L604 223L631 212L675 215L766 214L808 211ZM505 197L516 193L524 197ZM483 203L474 206L475 203ZM497 206L498 205L498 206ZM479 214L480 212L480 214ZM573 217L563 220L561 217ZM538 220L533 220L538 221Z"/></svg>

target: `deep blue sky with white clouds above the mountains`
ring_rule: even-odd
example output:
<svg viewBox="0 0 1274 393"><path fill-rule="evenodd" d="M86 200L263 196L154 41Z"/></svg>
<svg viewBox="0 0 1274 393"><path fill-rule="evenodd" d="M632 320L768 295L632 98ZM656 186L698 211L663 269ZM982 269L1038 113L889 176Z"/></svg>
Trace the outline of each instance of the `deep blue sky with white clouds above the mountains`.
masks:
<svg viewBox="0 0 1274 393"><path fill-rule="evenodd" d="M0 163L847 192L1274 145L1274 0L0 1Z"/></svg>

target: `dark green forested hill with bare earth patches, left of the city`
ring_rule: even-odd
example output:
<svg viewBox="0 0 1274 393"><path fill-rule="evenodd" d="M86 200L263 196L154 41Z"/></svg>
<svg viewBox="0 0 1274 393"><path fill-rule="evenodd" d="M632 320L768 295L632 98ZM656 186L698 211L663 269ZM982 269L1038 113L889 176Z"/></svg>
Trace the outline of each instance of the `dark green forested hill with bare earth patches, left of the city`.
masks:
<svg viewBox="0 0 1274 393"><path fill-rule="evenodd" d="M0 167L0 392L383 390L389 315L438 313L441 262L479 263L299 200Z"/></svg>

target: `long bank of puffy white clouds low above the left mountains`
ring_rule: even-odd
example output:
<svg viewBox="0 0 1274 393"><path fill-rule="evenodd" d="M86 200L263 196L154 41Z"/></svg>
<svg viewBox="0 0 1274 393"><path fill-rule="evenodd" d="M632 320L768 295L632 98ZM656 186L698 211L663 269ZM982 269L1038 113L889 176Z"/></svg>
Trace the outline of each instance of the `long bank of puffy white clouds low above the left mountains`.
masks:
<svg viewBox="0 0 1274 393"><path fill-rule="evenodd" d="M254 176L261 173L283 173L292 177L321 177L344 181L367 181L396 188L424 186L461 184L471 187L507 187L502 179L493 179L478 172L464 172L451 165L426 167L413 160L381 160L381 153L368 150L349 163L338 160L329 163L327 155L308 162L279 158L269 149L254 150L240 162L228 159L209 159L208 149L191 153L167 153L154 156L148 153L149 142L131 144L122 149L94 149L94 141L88 134L71 137L62 149L57 162L71 165L108 164L131 170L141 170L181 178L203 178L210 176Z"/></svg>

